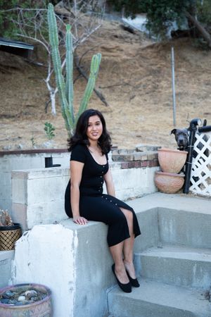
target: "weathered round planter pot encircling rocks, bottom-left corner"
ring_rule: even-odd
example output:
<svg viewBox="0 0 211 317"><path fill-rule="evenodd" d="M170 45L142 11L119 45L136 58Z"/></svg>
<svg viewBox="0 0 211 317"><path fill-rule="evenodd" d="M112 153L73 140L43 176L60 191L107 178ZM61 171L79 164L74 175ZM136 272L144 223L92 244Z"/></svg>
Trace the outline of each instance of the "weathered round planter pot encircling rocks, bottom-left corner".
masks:
<svg viewBox="0 0 211 317"><path fill-rule="evenodd" d="M0 289L0 298L5 292L26 292L35 290L44 293L46 296L37 302L30 304L3 304L0 302L0 316L4 317L52 317L51 290L39 284L19 284L7 286Z"/></svg>

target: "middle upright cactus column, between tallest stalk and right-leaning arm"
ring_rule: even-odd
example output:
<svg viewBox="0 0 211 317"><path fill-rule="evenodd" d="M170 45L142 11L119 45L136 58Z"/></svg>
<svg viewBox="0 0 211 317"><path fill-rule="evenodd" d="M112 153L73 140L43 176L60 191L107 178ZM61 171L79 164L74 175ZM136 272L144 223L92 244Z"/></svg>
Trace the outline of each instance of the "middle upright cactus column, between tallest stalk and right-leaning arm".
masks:
<svg viewBox="0 0 211 317"><path fill-rule="evenodd" d="M72 48L72 34L70 25L66 26L66 98L68 100L71 118L74 123L74 106L73 106L73 80L72 80L72 73L73 73L73 48Z"/></svg>

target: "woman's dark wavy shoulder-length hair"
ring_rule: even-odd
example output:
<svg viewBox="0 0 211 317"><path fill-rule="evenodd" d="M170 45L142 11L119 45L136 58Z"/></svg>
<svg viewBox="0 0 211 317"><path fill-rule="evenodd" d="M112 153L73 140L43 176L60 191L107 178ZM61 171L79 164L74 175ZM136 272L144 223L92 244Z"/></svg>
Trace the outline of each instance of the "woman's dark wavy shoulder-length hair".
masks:
<svg viewBox="0 0 211 317"><path fill-rule="evenodd" d="M106 129L106 120L102 113L98 110L87 109L78 118L75 133L68 139L68 151L72 151L72 148L77 144L89 145L89 139L87 137L87 128L89 123L89 117L98 116L103 125L103 132L98 139L98 144L102 149L103 154L107 154L112 147L110 135Z"/></svg>

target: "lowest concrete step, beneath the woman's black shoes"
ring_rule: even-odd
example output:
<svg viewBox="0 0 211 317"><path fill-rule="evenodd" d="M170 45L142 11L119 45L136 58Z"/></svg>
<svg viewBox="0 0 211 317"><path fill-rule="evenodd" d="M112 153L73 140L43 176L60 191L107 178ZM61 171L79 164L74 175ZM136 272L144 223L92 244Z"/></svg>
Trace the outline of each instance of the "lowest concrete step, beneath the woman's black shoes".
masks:
<svg viewBox="0 0 211 317"><path fill-rule="evenodd" d="M169 285L144 278L141 278L139 282L140 287L133 287L132 293L124 293L119 287L113 288L108 293L110 313L113 313L113 305L115 306L118 299L120 306L122 306L122 311L123 305L125 306L124 309L131 309L131 306L133 306L133 311L136 309L141 311L141 305L149 303L151 304L151 309L153 309L153 304L155 304L155 306L167 306L183 311L194 311L196 313L194 316L211 316L211 304L205 299L205 291ZM132 305L129 304L130 301ZM128 316L136 316L132 312L127 311L127 313L129 313ZM140 316L142 315L140 314ZM155 315L149 314L148 316Z"/></svg>

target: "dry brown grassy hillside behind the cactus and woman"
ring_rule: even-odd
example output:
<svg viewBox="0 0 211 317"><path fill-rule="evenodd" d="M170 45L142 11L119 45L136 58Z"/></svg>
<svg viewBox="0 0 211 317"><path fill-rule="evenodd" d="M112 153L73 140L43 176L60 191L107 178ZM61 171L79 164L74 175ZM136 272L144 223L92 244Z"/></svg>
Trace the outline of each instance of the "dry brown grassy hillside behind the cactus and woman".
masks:
<svg viewBox="0 0 211 317"><path fill-rule="evenodd" d="M103 22L84 46L84 68L91 55L102 53L96 88L106 97L106 107L94 94L89 107L98 108L106 117L113 145L134 148L136 144L158 144L176 148L173 135L171 46L174 45L177 127L188 127L192 118L206 118L211 125L211 51L193 45L191 39L174 39L153 44L140 32L132 34L119 23ZM39 58L38 58L39 60ZM54 147L64 148L67 133L60 106L51 115L48 91L44 84L46 68L34 66L18 56L0 53L0 149L29 149L46 142L44 123L55 127ZM75 73L75 77L77 73ZM75 105L84 91L84 79L75 82ZM20 145L19 145L20 144Z"/></svg>

